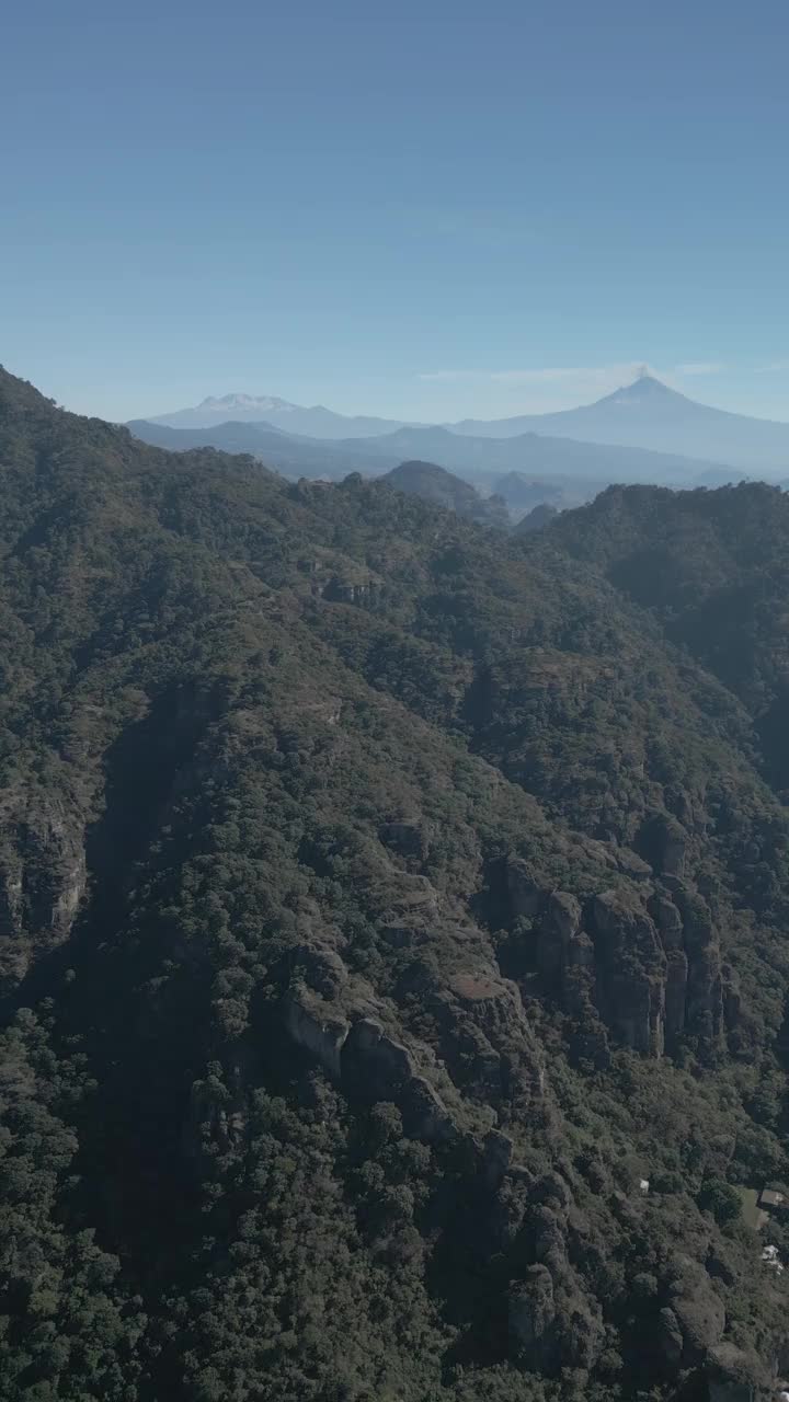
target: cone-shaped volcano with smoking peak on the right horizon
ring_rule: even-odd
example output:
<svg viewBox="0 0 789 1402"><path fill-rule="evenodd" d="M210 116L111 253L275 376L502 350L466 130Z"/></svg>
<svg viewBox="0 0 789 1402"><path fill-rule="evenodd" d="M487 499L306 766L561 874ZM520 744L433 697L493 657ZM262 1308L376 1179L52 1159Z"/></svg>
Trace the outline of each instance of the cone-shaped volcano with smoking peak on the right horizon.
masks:
<svg viewBox="0 0 789 1402"><path fill-rule="evenodd" d="M463 419L451 429L470 437L514 439L532 432L584 443L614 443L727 463L750 474L789 468L789 423L696 404L653 376L642 376L578 409L521 414L510 419Z"/></svg>

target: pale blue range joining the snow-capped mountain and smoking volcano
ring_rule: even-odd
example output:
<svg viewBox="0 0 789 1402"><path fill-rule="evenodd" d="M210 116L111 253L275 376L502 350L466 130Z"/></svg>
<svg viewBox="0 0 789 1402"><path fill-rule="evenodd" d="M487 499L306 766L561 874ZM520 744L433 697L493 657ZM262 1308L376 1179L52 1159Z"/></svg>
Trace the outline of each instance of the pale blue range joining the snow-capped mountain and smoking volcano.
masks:
<svg viewBox="0 0 789 1402"><path fill-rule="evenodd" d="M468 450L463 456L460 449L441 437L442 430L451 433L452 437L476 440L477 444L489 443L491 439L518 439L519 450L514 449L512 458L507 458L505 463L503 461L507 457L505 450L500 449L501 456L497 458L497 467L501 471L512 468L531 471L531 460L518 463L515 458L518 456L524 458L528 457L529 451L536 451L529 450L524 439L526 435L538 435L553 440L569 439L587 444L643 449L671 457L698 458L724 464L727 468L747 475L765 472L786 475L789 472L789 423L730 414L698 404L649 374L642 374L633 384L605 395L595 404L576 409L493 421L463 419L441 426L382 418L345 418L321 405L300 408L285 400L239 394L204 400L195 408L178 409L146 422L181 429L216 429L227 422L265 422L268 428L313 439L366 440L362 449L365 453L373 451L371 440L386 437L389 443L387 447L382 447L383 453L392 450L400 456L427 457L444 467L465 470L468 470L469 463L475 468L477 467L482 451ZM400 442L394 439L396 433L402 435ZM435 443L439 447L438 453ZM552 451L556 457L557 449L555 447ZM487 449L489 458L493 450ZM621 471L622 463L622 458L614 460L614 468ZM491 468L486 465L486 470ZM590 464L584 465L584 471L591 474ZM642 477L637 474L649 471L649 463L635 461L633 471L636 471L636 477L628 477L630 481L688 479L687 464L674 464L674 467L663 464L661 467L653 460L653 474L661 471L663 475Z"/></svg>

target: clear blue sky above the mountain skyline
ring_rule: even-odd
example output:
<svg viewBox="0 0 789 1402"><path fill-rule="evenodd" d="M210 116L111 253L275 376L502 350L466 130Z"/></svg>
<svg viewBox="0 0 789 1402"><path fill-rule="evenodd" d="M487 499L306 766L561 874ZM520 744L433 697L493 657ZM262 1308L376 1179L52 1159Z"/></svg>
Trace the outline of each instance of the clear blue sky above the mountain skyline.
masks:
<svg viewBox="0 0 789 1402"><path fill-rule="evenodd" d="M112 418L647 362L789 419L788 55L788 0L14 0L0 360Z"/></svg>

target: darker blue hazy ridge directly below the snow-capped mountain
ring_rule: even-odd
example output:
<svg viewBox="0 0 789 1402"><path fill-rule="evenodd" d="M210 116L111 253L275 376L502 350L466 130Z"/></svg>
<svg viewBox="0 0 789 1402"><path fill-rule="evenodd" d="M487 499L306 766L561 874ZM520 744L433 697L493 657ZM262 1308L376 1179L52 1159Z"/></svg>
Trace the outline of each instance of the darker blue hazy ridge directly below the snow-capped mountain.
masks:
<svg viewBox="0 0 789 1402"><path fill-rule="evenodd" d="M164 423L132 419L126 428L153 447L185 453L195 447L215 447L222 453L251 453L267 467L284 477L329 477L341 481L348 472L379 477L400 463L396 453L355 451L354 439L348 444L326 443L320 439L300 439L271 426L271 423L216 423L206 429L171 429Z"/></svg>

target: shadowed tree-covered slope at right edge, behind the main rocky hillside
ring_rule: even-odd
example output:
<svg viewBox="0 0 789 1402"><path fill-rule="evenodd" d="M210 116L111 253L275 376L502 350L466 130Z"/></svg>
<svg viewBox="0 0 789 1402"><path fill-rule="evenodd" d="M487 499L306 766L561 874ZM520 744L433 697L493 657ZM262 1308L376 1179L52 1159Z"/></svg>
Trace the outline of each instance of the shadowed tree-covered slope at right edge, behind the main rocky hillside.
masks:
<svg viewBox="0 0 789 1402"><path fill-rule="evenodd" d="M789 788L789 496L616 488L569 513L553 541L654 611L748 708L767 773Z"/></svg>

